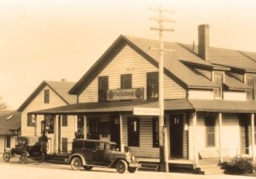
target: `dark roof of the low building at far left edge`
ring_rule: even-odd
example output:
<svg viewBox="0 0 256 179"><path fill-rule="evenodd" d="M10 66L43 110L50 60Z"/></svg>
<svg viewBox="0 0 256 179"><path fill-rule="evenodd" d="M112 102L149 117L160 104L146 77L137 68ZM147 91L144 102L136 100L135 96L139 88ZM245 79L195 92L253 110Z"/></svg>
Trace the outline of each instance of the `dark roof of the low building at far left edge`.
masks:
<svg viewBox="0 0 256 179"><path fill-rule="evenodd" d="M15 135L21 126L21 115L14 110L0 111L0 135Z"/></svg>

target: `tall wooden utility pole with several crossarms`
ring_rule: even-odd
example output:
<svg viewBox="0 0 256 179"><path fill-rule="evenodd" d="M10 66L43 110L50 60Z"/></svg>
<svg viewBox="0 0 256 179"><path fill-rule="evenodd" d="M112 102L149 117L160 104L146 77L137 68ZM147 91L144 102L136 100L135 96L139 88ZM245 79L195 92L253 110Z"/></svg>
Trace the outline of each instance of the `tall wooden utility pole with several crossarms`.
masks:
<svg viewBox="0 0 256 179"><path fill-rule="evenodd" d="M150 20L156 20L159 26L151 27L150 30L155 30L159 32L159 48L151 48L149 49L156 49L160 52L160 61L159 61L159 143L160 143L160 171L169 172L169 163L168 163L168 141L167 141L167 130L165 127L165 108L164 108L164 51L171 50L164 48L164 41L163 41L163 32L174 32L173 29L164 28L163 22L174 22L173 20L167 19L163 17L163 13L172 13L170 10L162 9L159 7L158 9L150 9L157 11L159 13L158 18L150 18ZM172 51L172 50L171 50Z"/></svg>

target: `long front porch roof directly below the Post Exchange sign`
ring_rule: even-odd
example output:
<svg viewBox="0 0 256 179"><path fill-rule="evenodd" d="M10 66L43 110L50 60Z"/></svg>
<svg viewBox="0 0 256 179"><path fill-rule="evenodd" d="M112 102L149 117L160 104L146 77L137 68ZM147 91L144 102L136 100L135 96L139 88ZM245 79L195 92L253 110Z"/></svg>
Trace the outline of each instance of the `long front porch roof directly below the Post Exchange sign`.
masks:
<svg viewBox="0 0 256 179"><path fill-rule="evenodd" d="M31 112L33 114L78 114L78 113L109 113L132 112L133 107L158 107L158 101L111 101L86 102L62 107L54 107ZM166 100L165 110L192 110L194 107L187 99Z"/></svg>

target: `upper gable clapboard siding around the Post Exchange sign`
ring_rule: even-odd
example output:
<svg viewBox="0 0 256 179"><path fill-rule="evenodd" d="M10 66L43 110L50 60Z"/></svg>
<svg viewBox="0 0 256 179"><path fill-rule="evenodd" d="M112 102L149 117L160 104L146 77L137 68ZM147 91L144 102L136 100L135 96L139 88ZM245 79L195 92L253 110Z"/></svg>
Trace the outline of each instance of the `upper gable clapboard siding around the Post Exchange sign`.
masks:
<svg viewBox="0 0 256 179"><path fill-rule="evenodd" d="M131 74L132 88L143 88L144 99L147 99L147 72L158 72L158 68L131 49L128 45L113 58L107 67L98 75L108 76L108 89L120 89L120 75ZM185 98L186 91L171 78L165 76L165 99ZM98 78L79 95L79 102L98 101Z"/></svg>

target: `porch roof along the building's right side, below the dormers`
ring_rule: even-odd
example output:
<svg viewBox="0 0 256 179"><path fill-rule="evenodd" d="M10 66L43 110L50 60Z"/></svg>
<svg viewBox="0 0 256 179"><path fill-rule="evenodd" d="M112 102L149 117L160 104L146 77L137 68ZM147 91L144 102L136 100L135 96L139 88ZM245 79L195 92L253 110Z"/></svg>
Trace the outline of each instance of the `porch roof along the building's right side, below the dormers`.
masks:
<svg viewBox="0 0 256 179"><path fill-rule="evenodd" d="M189 100L195 111L216 113L255 113L256 101Z"/></svg>

